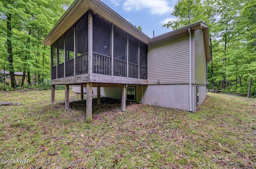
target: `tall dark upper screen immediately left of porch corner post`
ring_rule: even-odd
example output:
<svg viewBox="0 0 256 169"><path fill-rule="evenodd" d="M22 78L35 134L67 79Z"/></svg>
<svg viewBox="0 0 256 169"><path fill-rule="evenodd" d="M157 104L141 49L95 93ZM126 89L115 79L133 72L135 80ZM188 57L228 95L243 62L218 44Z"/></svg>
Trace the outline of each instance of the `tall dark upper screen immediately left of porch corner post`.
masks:
<svg viewBox="0 0 256 169"><path fill-rule="evenodd" d="M88 52L88 14L84 15L75 25L76 57Z"/></svg>

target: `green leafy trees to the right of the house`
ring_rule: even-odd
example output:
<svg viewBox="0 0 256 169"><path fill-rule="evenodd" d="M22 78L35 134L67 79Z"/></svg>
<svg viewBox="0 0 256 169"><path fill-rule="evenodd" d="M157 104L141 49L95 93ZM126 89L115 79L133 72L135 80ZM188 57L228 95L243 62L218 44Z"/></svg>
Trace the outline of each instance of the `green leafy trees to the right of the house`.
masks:
<svg viewBox="0 0 256 169"><path fill-rule="evenodd" d="M177 20L163 27L178 29L199 21L208 24L212 51L209 89L213 82L215 89L246 95L252 79L251 96L256 95L255 0L179 0L172 15Z"/></svg>

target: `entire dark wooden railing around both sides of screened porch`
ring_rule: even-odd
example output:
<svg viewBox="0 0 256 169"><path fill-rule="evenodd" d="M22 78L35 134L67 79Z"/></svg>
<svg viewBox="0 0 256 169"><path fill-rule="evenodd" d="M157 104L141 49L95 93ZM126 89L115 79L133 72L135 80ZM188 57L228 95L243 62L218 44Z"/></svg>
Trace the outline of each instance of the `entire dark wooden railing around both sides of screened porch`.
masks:
<svg viewBox="0 0 256 169"><path fill-rule="evenodd" d="M66 61L65 63L65 77L70 77L74 75L74 59ZM111 75L111 57L101 55L98 53L93 53L92 57L92 73ZM127 61L122 61L120 59L114 58L113 64L113 75L120 77L127 77ZM139 71L140 69L140 75ZM128 77L138 79L147 79L147 67L139 66L133 63L128 64ZM56 77L56 66L52 67L52 77L51 79L57 79L64 77L64 63L58 65L58 75ZM88 73L88 52L76 57L76 75Z"/></svg>

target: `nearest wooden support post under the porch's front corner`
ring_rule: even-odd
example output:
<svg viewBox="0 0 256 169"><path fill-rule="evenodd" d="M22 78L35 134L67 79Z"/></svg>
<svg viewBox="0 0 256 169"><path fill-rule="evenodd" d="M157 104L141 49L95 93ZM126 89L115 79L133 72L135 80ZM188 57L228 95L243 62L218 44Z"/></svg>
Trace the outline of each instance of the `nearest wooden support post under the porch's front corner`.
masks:
<svg viewBox="0 0 256 169"><path fill-rule="evenodd" d="M86 84L86 122L92 122L92 83Z"/></svg>

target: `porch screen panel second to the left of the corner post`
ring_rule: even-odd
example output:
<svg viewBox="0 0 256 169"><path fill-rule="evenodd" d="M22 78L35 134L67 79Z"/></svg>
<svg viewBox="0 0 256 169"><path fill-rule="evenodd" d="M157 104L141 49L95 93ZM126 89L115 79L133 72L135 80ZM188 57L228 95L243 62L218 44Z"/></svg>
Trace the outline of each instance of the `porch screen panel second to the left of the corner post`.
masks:
<svg viewBox="0 0 256 169"><path fill-rule="evenodd" d="M66 61L74 59L74 27L65 34Z"/></svg>

